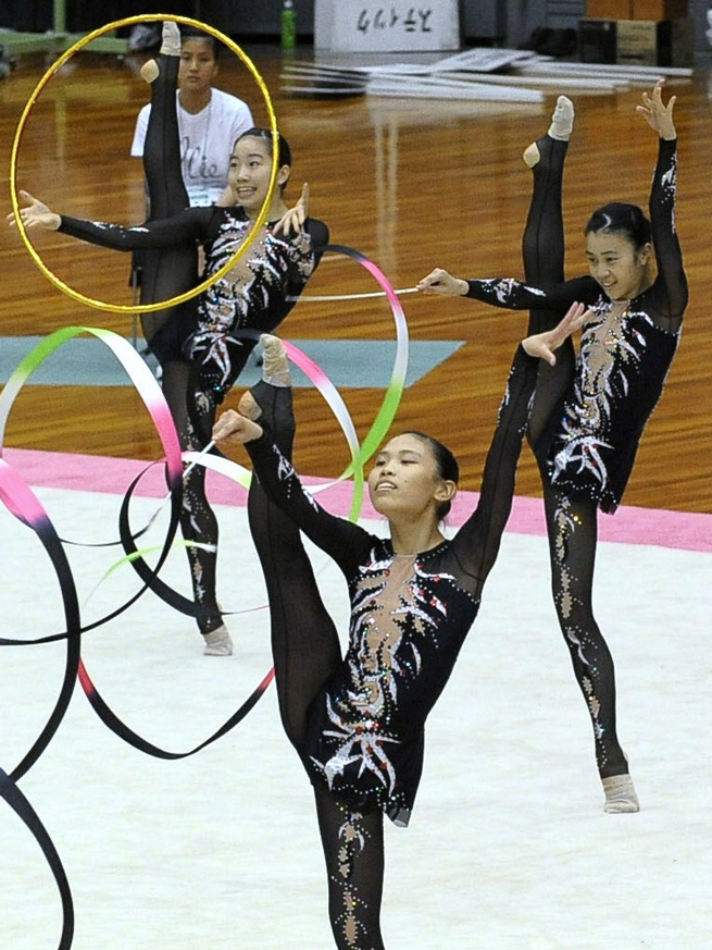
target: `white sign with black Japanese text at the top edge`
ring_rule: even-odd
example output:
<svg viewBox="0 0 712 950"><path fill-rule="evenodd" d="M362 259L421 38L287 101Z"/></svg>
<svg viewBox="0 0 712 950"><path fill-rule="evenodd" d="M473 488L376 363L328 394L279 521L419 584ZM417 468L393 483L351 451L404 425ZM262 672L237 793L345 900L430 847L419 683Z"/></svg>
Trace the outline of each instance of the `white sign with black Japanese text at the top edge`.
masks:
<svg viewBox="0 0 712 950"><path fill-rule="evenodd" d="M316 0L314 47L330 52L458 49L458 0Z"/></svg>

